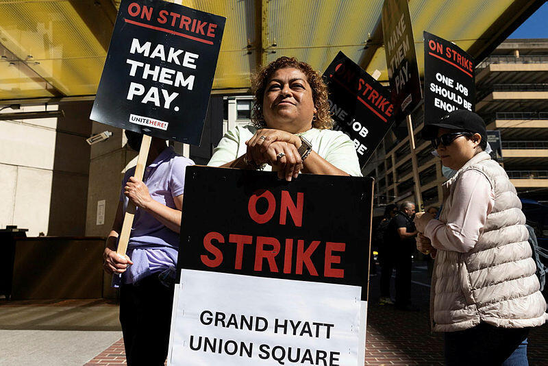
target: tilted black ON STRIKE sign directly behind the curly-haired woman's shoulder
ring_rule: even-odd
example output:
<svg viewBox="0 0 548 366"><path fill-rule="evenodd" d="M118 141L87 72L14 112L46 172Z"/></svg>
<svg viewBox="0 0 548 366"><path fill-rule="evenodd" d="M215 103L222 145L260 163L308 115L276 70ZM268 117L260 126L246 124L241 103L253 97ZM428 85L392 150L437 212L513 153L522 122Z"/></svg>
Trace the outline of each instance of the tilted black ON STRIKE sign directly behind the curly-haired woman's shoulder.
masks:
<svg viewBox="0 0 548 366"><path fill-rule="evenodd" d="M327 66L323 78L334 130L351 138L363 168L394 123L390 93L343 52Z"/></svg>

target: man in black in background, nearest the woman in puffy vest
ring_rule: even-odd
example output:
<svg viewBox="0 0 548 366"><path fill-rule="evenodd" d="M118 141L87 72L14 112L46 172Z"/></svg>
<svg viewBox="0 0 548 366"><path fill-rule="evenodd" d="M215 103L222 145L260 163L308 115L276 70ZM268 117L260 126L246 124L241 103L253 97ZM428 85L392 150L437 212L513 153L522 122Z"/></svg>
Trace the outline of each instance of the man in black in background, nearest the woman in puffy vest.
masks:
<svg viewBox="0 0 548 366"><path fill-rule="evenodd" d="M386 246L391 246L390 252L396 267L396 308L401 310L416 310L410 302L411 256L415 249L416 236L414 213L415 205L412 202L403 202L399 214L390 221L386 229Z"/></svg>

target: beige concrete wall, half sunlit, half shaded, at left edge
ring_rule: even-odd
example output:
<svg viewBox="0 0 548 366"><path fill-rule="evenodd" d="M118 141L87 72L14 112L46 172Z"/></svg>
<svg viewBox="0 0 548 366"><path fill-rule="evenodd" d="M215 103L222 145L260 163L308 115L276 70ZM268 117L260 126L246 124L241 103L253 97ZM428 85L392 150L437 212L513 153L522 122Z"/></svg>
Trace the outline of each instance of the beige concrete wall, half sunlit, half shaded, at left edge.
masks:
<svg viewBox="0 0 548 366"><path fill-rule="evenodd" d="M0 121L0 226L27 236L83 236L92 102L22 106L3 112L63 110L64 117Z"/></svg>

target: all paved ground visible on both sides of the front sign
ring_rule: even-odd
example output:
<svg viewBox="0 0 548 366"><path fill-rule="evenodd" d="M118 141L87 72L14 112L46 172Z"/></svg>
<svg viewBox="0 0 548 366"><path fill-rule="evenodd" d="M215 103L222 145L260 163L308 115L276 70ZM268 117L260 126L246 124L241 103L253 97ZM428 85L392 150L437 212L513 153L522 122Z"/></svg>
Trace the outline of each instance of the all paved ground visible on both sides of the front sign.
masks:
<svg viewBox="0 0 548 366"><path fill-rule="evenodd" d="M429 331L425 265L413 273L419 312L379 306L378 276L371 277L366 365L443 365L443 337ZM125 365L118 308L104 300L0 300L0 365ZM548 326L530 334L530 365L548 365Z"/></svg>

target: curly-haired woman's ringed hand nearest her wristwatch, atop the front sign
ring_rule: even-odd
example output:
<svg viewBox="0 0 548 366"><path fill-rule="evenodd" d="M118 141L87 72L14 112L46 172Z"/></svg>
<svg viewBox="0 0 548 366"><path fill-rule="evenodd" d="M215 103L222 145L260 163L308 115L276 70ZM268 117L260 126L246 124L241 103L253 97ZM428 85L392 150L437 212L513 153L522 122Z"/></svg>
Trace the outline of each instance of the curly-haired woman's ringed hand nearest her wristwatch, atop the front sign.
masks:
<svg viewBox="0 0 548 366"><path fill-rule="evenodd" d="M297 147L284 141L271 143L262 155L268 164L277 167L278 178L290 181L297 178L299 171L303 169L303 161L297 151Z"/></svg>

